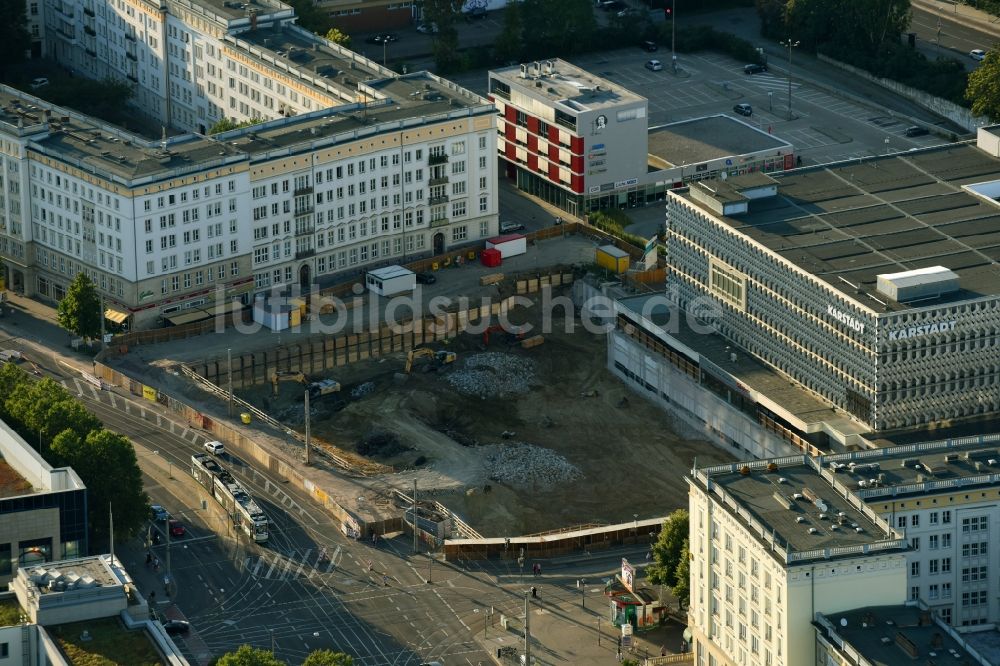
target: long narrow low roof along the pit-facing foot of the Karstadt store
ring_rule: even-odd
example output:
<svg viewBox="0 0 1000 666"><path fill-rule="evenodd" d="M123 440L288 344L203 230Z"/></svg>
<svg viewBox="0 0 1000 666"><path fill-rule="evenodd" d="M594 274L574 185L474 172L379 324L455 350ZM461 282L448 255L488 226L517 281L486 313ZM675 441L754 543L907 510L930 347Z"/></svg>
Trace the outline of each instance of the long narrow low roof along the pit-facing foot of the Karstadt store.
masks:
<svg viewBox="0 0 1000 666"><path fill-rule="evenodd" d="M823 423L836 424L837 429L845 434L868 431L867 427L853 420L846 412L831 407L805 387L737 349L721 335L705 335L693 331L684 312L678 310L675 314L668 307L663 294L630 296L618 302L635 313L643 314L646 319L659 326L664 334L732 375L743 385L744 390L751 389L758 394L758 399L766 398L780 407L785 413L778 412L779 415L798 420L796 425L803 431L809 432L810 424Z"/></svg>

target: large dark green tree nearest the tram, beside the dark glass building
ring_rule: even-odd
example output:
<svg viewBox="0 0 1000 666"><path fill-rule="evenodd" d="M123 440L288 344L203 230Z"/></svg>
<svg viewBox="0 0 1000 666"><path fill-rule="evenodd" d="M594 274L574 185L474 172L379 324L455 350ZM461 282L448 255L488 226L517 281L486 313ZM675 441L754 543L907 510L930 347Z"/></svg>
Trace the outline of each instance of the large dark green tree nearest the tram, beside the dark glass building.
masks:
<svg viewBox="0 0 1000 666"><path fill-rule="evenodd" d="M139 532L149 517L149 497L142 489L142 472L127 437L92 430L81 439L67 429L52 441L52 452L62 464L72 467L87 486L92 549L107 547L109 503L115 515L116 536Z"/></svg>

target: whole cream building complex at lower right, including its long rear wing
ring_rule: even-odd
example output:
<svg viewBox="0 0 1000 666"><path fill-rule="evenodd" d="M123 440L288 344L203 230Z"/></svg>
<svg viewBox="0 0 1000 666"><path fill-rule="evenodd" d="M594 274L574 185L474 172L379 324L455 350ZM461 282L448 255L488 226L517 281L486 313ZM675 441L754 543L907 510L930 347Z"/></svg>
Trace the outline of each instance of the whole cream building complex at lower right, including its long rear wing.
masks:
<svg viewBox="0 0 1000 666"><path fill-rule="evenodd" d="M884 617L889 611L864 607L904 601L926 611L916 624L936 625L943 642L954 638L945 626L991 630L1000 622L996 576L990 577L1000 567L1000 549L991 543L1000 529L998 443L1000 436L984 435L695 470L689 486L692 631L702 639L696 653L704 653L706 663L714 655L716 664L813 663L796 656L803 645L789 643L779 653L769 628L783 619L791 630L823 613L836 617L839 627L833 628L839 629L845 626L840 615L846 615L853 619L840 639L878 641L880 636L855 632L866 614ZM890 553L898 559L883 564ZM844 558L853 558L846 573ZM855 572L867 573L856 583ZM811 579L808 590L790 585L781 597L784 618L773 606L769 610L769 582L803 577ZM832 587L823 587L821 578ZM763 589L757 589L761 580ZM820 643L843 642L817 622ZM733 633L743 640L727 642ZM904 641L901 647L926 654L932 634L925 638L926 645L911 637L914 645ZM768 642L771 661L763 651ZM741 653L746 645L750 649Z"/></svg>

